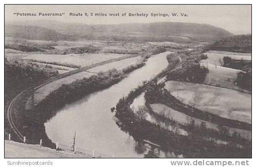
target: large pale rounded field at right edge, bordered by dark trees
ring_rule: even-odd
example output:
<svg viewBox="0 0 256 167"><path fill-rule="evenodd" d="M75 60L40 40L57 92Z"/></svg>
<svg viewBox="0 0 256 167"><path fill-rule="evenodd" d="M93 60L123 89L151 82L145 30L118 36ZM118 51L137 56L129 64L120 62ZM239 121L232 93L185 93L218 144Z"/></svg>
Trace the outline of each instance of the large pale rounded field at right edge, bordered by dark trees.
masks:
<svg viewBox="0 0 256 167"><path fill-rule="evenodd" d="M179 81L167 81L165 88L182 103L223 118L251 124L251 94Z"/></svg>

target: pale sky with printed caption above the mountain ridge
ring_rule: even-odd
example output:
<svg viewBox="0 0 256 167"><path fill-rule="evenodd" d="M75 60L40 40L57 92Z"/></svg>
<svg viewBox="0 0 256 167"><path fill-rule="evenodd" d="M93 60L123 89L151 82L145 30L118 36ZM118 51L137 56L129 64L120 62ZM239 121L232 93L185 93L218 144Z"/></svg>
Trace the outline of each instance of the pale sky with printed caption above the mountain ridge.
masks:
<svg viewBox="0 0 256 167"><path fill-rule="evenodd" d="M14 13L65 13L63 16L17 16ZM69 16L69 13L83 16ZM120 13L120 16L84 16L84 13ZM125 16L121 14L126 13ZM177 13L178 17L128 16L129 13ZM185 13L188 16L182 17ZM95 24L152 23L161 21L214 25L233 34L251 34L251 5L5 5L5 21L57 20Z"/></svg>

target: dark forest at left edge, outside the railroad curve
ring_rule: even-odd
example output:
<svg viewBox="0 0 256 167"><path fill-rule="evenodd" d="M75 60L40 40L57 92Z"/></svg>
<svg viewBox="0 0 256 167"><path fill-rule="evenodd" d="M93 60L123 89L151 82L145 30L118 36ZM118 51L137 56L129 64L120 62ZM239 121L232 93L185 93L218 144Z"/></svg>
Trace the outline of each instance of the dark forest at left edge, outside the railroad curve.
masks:
<svg viewBox="0 0 256 167"><path fill-rule="evenodd" d="M5 111L10 101L22 90L58 74L56 69L23 59L5 58ZM5 129L8 129L5 115Z"/></svg>

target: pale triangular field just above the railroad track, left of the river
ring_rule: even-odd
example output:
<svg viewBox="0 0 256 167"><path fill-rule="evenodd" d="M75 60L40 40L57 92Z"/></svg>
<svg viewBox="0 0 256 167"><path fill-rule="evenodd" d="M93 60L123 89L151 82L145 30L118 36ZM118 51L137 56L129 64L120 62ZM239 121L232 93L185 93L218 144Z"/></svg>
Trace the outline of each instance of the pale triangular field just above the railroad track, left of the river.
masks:
<svg viewBox="0 0 256 167"><path fill-rule="evenodd" d="M59 62L60 64L74 64L84 67L127 55L128 54L30 54L23 59L33 59L44 62Z"/></svg>

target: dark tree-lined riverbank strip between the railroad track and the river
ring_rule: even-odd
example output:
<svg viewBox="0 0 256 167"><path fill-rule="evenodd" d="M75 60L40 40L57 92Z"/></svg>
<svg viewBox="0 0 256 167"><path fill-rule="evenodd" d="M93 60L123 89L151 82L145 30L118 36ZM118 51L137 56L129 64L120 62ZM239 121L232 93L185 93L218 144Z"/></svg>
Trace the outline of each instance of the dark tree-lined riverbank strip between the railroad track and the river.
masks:
<svg viewBox="0 0 256 167"><path fill-rule="evenodd" d="M43 139L45 146L54 148L55 144L49 140L45 133L44 123L47 120L56 115L57 111L67 104L120 82L127 77L127 74L144 66L146 59L149 57L147 54L143 62L131 65L122 70L112 69L104 73L95 74L90 78L64 84L62 87L50 93L35 108L26 111L26 126L29 127L27 128L26 134L29 141L38 144L38 141Z"/></svg>

